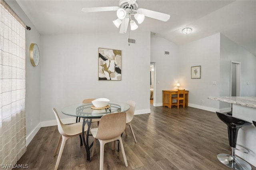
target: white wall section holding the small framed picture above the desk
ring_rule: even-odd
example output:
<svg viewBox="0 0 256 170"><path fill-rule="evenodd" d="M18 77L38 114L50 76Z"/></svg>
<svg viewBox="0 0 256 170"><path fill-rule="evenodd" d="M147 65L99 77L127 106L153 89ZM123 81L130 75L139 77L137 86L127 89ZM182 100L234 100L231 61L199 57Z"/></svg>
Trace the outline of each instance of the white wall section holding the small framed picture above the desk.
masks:
<svg viewBox="0 0 256 170"><path fill-rule="evenodd" d="M219 96L220 33L180 45L179 52L180 85L189 90L188 105L215 111L219 108L218 102L207 98ZM201 65L201 79L191 79L191 67L198 65Z"/></svg>

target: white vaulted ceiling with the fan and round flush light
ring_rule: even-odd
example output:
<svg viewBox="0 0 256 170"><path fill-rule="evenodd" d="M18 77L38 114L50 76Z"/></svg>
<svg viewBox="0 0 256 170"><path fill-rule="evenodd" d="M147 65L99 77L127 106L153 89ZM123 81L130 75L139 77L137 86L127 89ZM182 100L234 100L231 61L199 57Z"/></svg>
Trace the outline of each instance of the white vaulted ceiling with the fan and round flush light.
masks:
<svg viewBox="0 0 256 170"><path fill-rule="evenodd" d="M7 0L8 1L8 0ZM17 0L40 34L119 32L115 11L84 13L82 8L118 6L118 0ZM224 34L256 56L255 0L137 0L139 8L170 14L163 22L146 17L138 29L182 45ZM182 34L183 28L192 33ZM128 33L126 33L128 34Z"/></svg>

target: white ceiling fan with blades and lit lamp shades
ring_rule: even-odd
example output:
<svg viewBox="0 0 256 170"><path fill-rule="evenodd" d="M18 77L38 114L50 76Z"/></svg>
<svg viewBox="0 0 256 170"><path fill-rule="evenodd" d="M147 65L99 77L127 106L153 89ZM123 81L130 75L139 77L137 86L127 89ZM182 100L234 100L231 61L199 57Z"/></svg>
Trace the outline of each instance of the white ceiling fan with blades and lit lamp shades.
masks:
<svg viewBox="0 0 256 170"><path fill-rule="evenodd" d="M156 20L168 21L170 19L170 15L164 14L161 12L156 12L152 10L147 10L144 8L138 8L138 4L136 0L120 0L119 6L108 6L108 7L95 7L95 8L82 8L83 12L103 12L103 11L116 11L117 19L113 21L115 26L119 28L120 26L120 34L124 34L127 32L127 28L130 22L131 30L136 30L138 25L134 20L132 20L132 16L134 16L135 20L137 20L138 24L141 24L144 21L145 16L154 18Z"/></svg>

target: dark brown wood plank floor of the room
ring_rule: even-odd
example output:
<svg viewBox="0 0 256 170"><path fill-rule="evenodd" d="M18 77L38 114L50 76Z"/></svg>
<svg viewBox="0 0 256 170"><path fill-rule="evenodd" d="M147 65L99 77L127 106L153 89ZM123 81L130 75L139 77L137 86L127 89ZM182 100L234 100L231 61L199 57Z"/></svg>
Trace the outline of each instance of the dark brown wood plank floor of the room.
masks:
<svg viewBox="0 0 256 170"><path fill-rule="evenodd" d="M230 170L216 158L218 153L230 153L230 147L227 127L215 113L192 107L150 105L150 109L150 114L135 115L132 121L138 143L130 129L128 136L122 136L128 167L121 151L117 152L117 147L112 150L108 143L104 149L105 170ZM57 126L40 128L17 164L28 164L28 169L34 170L54 169L58 138ZM98 170L99 148L97 141L91 162L86 162L79 137L68 139L58 169ZM252 166L252 170L256 168Z"/></svg>

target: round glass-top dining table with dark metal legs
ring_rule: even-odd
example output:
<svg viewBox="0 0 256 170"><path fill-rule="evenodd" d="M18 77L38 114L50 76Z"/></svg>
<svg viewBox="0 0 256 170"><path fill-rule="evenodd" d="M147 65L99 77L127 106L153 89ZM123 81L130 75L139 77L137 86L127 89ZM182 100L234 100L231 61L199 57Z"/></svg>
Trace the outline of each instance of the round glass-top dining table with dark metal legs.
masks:
<svg viewBox="0 0 256 170"><path fill-rule="evenodd" d="M126 103L110 102L108 104L108 107L105 107L105 108L106 109L95 108L92 105L92 103L87 103L87 104L78 103L78 104L64 107L62 109L62 113L64 113L65 115L73 116L76 118L84 118L81 130L82 130L82 141L84 143L84 147L86 150L87 162L90 162L90 148L93 146L93 142L92 144L89 145L89 141L88 141L90 136L89 132L90 132L92 119L101 118L103 115L106 115L109 113L126 112L130 109L130 106ZM78 122L78 119L76 119L76 122ZM85 139L84 126L86 124L88 125L88 129L86 132L86 139Z"/></svg>

